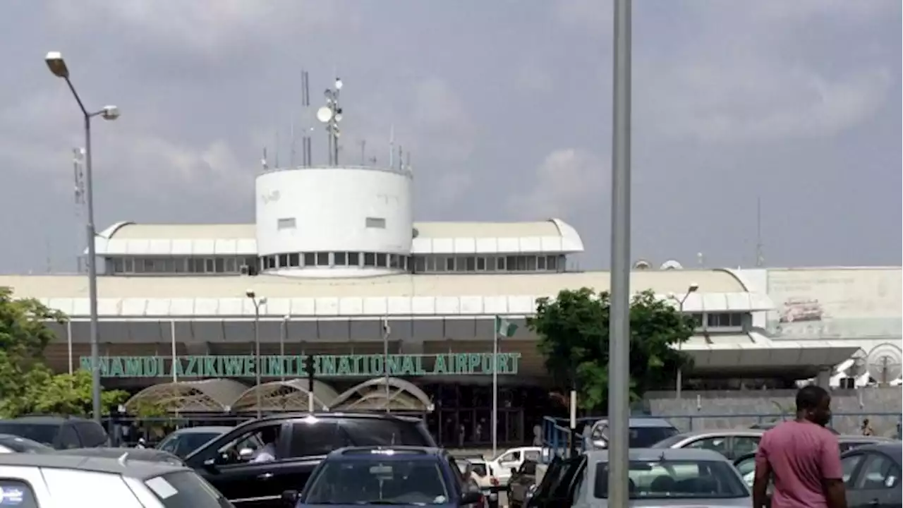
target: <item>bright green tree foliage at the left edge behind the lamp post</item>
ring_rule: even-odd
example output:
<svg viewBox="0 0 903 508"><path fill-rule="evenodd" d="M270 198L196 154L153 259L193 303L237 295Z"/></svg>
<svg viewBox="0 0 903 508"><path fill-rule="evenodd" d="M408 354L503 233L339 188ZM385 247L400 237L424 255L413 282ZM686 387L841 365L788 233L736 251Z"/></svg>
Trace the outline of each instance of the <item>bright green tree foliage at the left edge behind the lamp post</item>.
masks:
<svg viewBox="0 0 903 508"><path fill-rule="evenodd" d="M15 299L0 287L0 418L29 413L87 416L91 413L91 373L54 374L42 362L54 338L48 322L66 317L33 299ZM105 413L128 399L123 390L101 392Z"/></svg>

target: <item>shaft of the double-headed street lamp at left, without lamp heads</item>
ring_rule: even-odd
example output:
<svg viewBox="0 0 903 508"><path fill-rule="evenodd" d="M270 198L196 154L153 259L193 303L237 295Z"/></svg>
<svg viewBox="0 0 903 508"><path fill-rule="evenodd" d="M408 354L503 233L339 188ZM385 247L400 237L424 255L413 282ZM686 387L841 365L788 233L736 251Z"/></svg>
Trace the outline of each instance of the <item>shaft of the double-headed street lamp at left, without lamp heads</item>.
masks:
<svg viewBox="0 0 903 508"><path fill-rule="evenodd" d="M69 83L72 93L75 88ZM76 94L78 98L78 94ZM81 101L79 100L79 106ZM85 202L88 207L88 222L85 224L85 237L88 240L88 307L91 316L89 328L91 340L91 407L94 421L100 423L100 340L98 337L98 255L94 245L94 178L91 165L91 115L82 108L85 117Z"/></svg>

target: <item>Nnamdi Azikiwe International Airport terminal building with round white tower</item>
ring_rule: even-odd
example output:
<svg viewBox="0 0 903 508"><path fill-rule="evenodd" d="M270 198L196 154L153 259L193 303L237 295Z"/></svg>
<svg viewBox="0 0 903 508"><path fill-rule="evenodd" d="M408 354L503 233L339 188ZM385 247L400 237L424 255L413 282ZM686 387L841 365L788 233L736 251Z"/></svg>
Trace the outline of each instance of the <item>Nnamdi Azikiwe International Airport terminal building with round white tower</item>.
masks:
<svg viewBox="0 0 903 508"><path fill-rule="evenodd" d="M426 413L442 442L479 444L490 440L496 369L499 441L530 440L554 409L524 320L537 297L605 290L609 274L569 269L582 240L557 219L414 221L412 182L404 166L274 169L257 176L256 223L119 222L98 233L104 385L183 413L254 411L258 394L265 411L306 409L311 357L318 407ZM683 345L695 361L688 383L815 377L858 349L773 340L754 316L775 303L731 270L631 278L663 298L691 285L699 289L684 311L698 334ZM53 369L89 365L83 274L2 277L0 286L70 316L47 350ZM497 316L519 326L493 358Z"/></svg>

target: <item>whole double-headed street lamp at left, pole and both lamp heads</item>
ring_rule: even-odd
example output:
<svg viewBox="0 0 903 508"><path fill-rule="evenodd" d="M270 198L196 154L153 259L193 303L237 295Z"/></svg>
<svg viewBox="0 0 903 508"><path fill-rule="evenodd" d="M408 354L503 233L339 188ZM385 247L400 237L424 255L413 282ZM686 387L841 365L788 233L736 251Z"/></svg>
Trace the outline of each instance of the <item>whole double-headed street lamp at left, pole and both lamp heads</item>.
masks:
<svg viewBox="0 0 903 508"><path fill-rule="evenodd" d="M91 165L91 118L103 117L106 120L115 120L119 118L119 108L116 106L105 106L99 111L90 112L85 108L85 104L79 97L72 80L69 77L69 67L63 60L60 52L49 52L44 57L47 67L50 68L54 76L66 80L72 97L79 104L81 115L84 119L85 127L85 203L87 207L87 221L85 223L85 237L88 241L88 313L90 315L89 337L91 343L91 409L93 418L100 423L100 346L98 338L98 267L97 252L94 245L97 236L94 227L94 178L93 167Z"/></svg>

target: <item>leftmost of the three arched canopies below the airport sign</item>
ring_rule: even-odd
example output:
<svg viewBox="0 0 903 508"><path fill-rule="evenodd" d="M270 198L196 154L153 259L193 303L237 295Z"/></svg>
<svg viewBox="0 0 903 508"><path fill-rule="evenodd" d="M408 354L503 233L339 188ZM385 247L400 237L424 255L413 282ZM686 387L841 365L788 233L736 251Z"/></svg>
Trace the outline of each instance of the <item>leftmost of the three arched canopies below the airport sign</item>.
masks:
<svg viewBox="0 0 903 508"><path fill-rule="evenodd" d="M160 406L169 412L203 413L228 411L247 386L235 380L175 381L155 384L126 401L126 410L136 411L142 404Z"/></svg>

